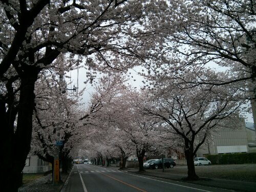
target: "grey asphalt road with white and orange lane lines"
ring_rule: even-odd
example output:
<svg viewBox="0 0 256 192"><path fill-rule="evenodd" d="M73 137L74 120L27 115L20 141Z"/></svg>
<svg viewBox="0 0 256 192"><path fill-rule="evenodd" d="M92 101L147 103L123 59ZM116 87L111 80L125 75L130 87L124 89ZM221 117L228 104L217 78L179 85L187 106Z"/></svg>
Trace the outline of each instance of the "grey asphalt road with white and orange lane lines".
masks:
<svg viewBox="0 0 256 192"><path fill-rule="evenodd" d="M220 188L212 188L195 184L187 184L172 180L140 176L123 172L117 167L100 167L95 165L74 165L67 183L61 192L132 192L132 191L212 191L227 192Z"/></svg>

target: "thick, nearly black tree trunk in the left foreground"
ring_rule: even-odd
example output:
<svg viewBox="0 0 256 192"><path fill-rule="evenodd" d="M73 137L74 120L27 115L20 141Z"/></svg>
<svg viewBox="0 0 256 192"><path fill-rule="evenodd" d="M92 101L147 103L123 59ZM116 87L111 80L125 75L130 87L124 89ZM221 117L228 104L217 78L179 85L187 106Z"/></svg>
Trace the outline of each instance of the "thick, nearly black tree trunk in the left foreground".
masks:
<svg viewBox="0 0 256 192"><path fill-rule="evenodd" d="M22 179L22 170L30 151L36 79L37 73L33 69L21 77L16 130L13 130L11 122L3 123L1 191L16 192Z"/></svg>

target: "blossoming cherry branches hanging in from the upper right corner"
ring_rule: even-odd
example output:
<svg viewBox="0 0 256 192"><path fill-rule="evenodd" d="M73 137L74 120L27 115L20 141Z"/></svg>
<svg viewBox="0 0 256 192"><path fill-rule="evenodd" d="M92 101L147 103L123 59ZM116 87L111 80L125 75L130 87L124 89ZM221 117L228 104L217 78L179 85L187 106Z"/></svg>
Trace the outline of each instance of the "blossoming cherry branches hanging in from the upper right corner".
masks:
<svg viewBox="0 0 256 192"><path fill-rule="evenodd" d="M163 42L159 49L167 59L165 62L177 65L174 70L215 62L247 72L247 76L237 74L233 80L255 78L254 1L185 0L172 1L162 8L164 14L158 15L161 22L154 22L152 15L148 28L161 34L156 36Z"/></svg>

